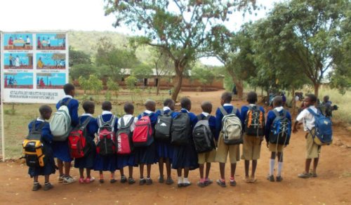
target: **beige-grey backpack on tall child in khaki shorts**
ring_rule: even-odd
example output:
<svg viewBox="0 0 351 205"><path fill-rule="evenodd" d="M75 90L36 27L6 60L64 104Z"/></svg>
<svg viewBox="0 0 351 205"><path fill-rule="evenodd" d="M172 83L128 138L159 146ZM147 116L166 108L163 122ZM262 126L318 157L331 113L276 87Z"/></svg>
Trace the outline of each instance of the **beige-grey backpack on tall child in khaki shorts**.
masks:
<svg viewBox="0 0 351 205"><path fill-rule="evenodd" d="M226 145L239 145L243 143L241 121L237 117L237 108L233 106L232 113L228 114L224 107L219 107L223 114L222 132L223 140Z"/></svg>

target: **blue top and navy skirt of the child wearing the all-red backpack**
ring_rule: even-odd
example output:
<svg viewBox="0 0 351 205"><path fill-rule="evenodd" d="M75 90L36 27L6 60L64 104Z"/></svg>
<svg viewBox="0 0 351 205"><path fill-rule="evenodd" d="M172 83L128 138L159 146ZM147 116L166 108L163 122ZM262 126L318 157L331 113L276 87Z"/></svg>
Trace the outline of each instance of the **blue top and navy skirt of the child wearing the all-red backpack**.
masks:
<svg viewBox="0 0 351 205"><path fill-rule="evenodd" d="M150 112L143 112L143 117L150 114ZM138 119L142 117L142 114L139 114ZM154 133L154 126L157 122L157 114L151 112L150 121L152 126L152 135ZM156 149L154 142L147 147L135 147L135 164L154 164L156 163Z"/></svg>

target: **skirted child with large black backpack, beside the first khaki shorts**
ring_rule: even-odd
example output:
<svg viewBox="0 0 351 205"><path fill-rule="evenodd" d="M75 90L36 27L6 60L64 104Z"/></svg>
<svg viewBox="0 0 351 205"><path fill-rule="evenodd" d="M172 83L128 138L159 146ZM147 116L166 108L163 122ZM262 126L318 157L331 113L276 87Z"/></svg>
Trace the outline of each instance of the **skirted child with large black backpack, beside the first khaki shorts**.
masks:
<svg viewBox="0 0 351 205"><path fill-rule="evenodd" d="M173 119L180 113L186 113L190 118L190 133L189 143L187 145L174 145L173 146L173 157L172 157L172 168L177 170L178 173L178 187L187 187L191 185L188 180L189 171L199 167L197 152L194 147L192 140L192 130L197 124L197 117L194 113L190 112L192 109L192 102L189 98L182 98L180 100L182 109L180 112L173 112ZM182 170L184 169L184 178L182 178Z"/></svg>

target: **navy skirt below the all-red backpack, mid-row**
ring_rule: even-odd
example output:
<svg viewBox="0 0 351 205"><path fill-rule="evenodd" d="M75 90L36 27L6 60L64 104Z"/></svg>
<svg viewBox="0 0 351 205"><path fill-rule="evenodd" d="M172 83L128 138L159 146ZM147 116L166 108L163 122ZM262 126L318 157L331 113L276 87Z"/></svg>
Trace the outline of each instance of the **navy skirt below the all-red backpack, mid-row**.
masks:
<svg viewBox="0 0 351 205"><path fill-rule="evenodd" d="M154 143L147 147L135 147L135 164L156 163L156 150Z"/></svg>

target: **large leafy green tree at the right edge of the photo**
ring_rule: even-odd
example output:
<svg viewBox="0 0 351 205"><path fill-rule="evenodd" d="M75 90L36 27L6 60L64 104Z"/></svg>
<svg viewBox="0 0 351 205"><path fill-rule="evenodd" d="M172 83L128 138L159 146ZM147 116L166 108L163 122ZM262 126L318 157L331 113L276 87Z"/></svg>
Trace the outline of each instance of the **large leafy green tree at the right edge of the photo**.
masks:
<svg viewBox="0 0 351 205"><path fill-rule="evenodd" d="M276 4L268 17L277 35L267 41L279 42L279 51L303 67L298 72L310 79L315 95L335 60L332 51L347 9L350 11L347 0L292 0Z"/></svg>

